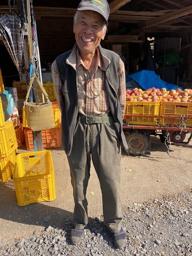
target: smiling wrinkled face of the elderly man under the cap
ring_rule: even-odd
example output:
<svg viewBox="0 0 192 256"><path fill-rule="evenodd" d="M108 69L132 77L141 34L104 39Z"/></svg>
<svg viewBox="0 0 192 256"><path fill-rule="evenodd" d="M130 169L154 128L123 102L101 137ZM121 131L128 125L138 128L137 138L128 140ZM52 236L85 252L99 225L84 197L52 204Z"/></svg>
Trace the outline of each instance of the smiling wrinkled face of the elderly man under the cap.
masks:
<svg viewBox="0 0 192 256"><path fill-rule="evenodd" d="M76 22L74 21L73 32L80 53L94 53L95 48L104 39L106 28L104 20L99 13L94 11L78 11Z"/></svg>

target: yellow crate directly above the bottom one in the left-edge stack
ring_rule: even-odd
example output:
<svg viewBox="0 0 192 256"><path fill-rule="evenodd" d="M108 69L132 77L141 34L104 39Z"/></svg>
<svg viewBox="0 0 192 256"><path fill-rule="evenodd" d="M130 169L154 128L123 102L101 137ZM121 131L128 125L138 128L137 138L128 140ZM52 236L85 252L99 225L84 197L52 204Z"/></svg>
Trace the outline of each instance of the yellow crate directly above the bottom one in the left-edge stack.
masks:
<svg viewBox="0 0 192 256"><path fill-rule="evenodd" d="M17 151L17 139L12 121L6 121L0 127L0 159L9 156L10 152Z"/></svg>

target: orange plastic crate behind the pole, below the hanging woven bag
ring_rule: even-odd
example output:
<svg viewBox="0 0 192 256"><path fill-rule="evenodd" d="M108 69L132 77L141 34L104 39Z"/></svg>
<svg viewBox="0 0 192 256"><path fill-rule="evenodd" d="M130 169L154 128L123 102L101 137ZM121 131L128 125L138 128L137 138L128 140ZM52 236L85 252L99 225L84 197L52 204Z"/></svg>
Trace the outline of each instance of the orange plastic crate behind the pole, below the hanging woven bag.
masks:
<svg viewBox="0 0 192 256"><path fill-rule="evenodd" d="M56 148L61 146L61 128L41 131L43 148ZM27 150L34 150L33 132L29 127L24 129Z"/></svg>

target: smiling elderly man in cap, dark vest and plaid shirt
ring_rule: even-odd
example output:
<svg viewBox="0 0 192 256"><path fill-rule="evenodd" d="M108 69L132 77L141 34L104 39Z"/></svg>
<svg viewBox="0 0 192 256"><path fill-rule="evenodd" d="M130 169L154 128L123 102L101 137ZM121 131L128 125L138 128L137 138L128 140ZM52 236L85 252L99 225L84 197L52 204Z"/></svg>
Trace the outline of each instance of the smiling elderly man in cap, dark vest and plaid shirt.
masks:
<svg viewBox="0 0 192 256"><path fill-rule="evenodd" d="M127 149L122 132L125 76L119 55L100 46L109 14L105 0L80 2L73 26L76 44L56 58L52 75L75 202L71 243L81 241L88 224L86 191L92 159L102 191L104 224L121 248L126 239L119 199L121 143Z"/></svg>

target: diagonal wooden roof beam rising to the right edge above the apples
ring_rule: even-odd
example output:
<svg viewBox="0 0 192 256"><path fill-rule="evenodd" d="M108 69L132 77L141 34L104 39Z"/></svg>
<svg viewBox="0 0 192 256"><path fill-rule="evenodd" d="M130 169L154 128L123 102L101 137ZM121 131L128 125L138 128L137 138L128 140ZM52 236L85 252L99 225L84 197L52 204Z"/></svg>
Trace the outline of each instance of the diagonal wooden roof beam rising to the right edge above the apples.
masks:
<svg viewBox="0 0 192 256"><path fill-rule="evenodd" d="M170 12L168 14L162 15L161 17L156 17L148 20L147 22L144 22L139 25L140 28L150 28L154 27L156 25L168 22L169 20L173 20L182 16L186 16L188 14L192 13L192 5L189 5L187 7L181 8L179 10Z"/></svg>

